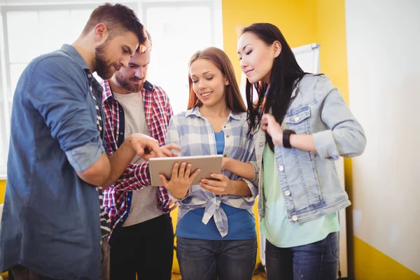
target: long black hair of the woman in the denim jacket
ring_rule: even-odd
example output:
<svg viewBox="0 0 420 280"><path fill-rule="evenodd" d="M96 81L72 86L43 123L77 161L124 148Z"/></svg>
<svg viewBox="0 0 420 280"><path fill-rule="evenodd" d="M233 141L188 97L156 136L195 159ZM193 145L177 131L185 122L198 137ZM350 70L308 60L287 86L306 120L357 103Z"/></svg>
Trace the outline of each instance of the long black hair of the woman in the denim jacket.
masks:
<svg viewBox="0 0 420 280"><path fill-rule="evenodd" d="M251 84L246 80L246 103L248 104L248 123L249 132L258 129L263 113L268 113L272 109L272 115L280 124L289 107L290 97L293 88L302 80L305 73L295 59L290 46L286 42L281 31L270 23L254 23L242 30L242 34L251 32L267 45L272 45L275 41L281 44L281 52L274 59L271 76L269 77L269 89L267 94L267 83L260 80L258 83ZM257 90L258 101L253 104L253 89ZM272 138L267 134L269 148L274 151Z"/></svg>

